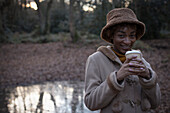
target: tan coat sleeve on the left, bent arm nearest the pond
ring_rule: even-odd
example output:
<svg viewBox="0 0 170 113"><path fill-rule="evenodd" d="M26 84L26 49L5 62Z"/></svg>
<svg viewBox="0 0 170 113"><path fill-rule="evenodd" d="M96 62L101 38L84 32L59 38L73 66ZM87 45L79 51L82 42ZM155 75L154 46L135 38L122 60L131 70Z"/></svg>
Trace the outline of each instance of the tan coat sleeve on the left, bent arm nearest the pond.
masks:
<svg viewBox="0 0 170 113"><path fill-rule="evenodd" d="M115 77L115 72L112 72L108 75L106 80L102 81L98 65L99 63L97 63L92 56L87 59L84 102L92 111L102 109L107 106L124 87L123 83L122 85L119 85L117 82L114 84L112 83L115 81L113 78Z"/></svg>

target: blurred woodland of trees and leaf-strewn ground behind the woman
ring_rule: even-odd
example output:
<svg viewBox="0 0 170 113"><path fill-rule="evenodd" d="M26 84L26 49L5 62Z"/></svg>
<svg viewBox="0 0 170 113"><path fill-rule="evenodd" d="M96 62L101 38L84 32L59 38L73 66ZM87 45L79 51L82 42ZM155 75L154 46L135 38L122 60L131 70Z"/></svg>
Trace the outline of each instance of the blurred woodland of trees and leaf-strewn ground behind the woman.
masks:
<svg viewBox="0 0 170 113"><path fill-rule="evenodd" d="M107 45L100 39L106 14L118 7L133 9L146 24L134 48L159 77L155 112L169 113L170 0L0 0L0 110L8 111L6 87L84 81L87 57Z"/></svg>

